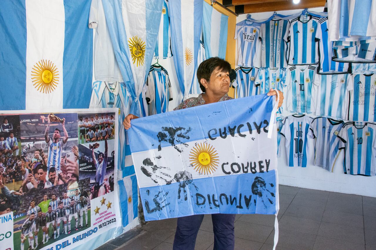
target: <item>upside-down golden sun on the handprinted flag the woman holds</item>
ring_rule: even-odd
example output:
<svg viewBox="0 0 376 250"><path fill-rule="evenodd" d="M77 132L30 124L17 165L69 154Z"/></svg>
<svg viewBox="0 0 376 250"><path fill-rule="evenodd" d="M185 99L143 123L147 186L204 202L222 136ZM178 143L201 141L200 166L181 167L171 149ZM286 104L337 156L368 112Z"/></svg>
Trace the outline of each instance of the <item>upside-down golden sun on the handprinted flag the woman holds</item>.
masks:
<svg viewBox="0 0 376 250"><path fill-rule="evenodd" d="M207 143L200 143L193 147L190 154L191 165L200 174L213 173L218 166L218 154L213 146Z"/></svg>

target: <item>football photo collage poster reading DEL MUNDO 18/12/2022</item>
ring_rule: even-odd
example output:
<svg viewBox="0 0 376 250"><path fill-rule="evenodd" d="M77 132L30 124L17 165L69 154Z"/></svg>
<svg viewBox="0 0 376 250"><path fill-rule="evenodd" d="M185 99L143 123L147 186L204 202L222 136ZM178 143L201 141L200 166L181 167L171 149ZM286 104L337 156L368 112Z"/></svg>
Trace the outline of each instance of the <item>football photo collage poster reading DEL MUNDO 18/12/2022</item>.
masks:
<svg viewBox="0 0 376 250"><path fill-rule="evenodd" d="M1 248L94 249L120 234L118 109L3 112Z"/></svg>

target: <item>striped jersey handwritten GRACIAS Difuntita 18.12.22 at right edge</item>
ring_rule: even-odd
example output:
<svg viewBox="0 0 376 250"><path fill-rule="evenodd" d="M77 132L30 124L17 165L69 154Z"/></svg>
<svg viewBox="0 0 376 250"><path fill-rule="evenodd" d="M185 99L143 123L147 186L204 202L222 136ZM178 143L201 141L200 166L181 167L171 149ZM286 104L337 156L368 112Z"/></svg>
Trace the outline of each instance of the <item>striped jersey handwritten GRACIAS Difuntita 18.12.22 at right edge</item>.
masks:
<svg viewBox="0 0 376 250"><path fill-rule="evenodd" d="M346 120L376 122L376 74L351 74L349 111Z"/></svg>

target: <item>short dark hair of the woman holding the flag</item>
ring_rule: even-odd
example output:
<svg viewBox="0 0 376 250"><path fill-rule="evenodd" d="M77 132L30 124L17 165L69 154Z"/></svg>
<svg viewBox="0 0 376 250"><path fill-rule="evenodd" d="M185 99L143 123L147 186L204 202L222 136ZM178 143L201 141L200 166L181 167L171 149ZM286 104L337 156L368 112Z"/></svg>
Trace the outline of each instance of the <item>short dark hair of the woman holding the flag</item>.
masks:
<svg viewBox="0 0 376 250"><path fill-rule="evenodd" d="M205 93L205 87L201 84L200 80L204 78L206 81L209 81L212 72L217 67L220 71L223 72L231 71L230 63L219 57L211 57L208 60L205 60L202 63L200 63L200 66L197 69L197 80L199 80L200 89L203 93Z"/></svg>

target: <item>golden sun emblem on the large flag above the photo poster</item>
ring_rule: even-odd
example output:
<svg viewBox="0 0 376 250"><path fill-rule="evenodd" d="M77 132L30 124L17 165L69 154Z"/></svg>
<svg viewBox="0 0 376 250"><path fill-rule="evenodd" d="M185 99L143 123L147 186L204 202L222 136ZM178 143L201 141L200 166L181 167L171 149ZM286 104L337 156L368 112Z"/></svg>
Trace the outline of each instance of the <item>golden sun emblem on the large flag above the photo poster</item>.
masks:
<svg viewBox="0 0 376 250"><path fill-rule="evenodd" d="M58 68L50 60L41 60L37 62L32 71L31 79L36 90L43 93L50 93L58 86Z"/></svg>

